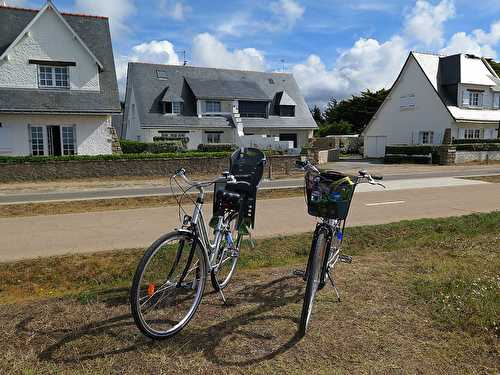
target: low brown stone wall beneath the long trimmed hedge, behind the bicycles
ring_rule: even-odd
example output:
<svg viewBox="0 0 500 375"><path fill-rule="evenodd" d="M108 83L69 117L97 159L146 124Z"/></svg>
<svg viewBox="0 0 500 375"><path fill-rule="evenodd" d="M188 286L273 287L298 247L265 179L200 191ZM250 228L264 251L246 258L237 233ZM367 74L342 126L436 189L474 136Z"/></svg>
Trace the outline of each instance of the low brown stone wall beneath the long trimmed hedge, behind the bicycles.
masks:
<svg viewBox="0 0 500 375"><path fill-rule="evenodd" d="M270 156L264 177L288 175L296 156ZM123 176L170 176L178 168L191 175L217 175L229 168L229 158L185 158L147 160L52 161L0 163L0 182L61 180Z"/></svg>

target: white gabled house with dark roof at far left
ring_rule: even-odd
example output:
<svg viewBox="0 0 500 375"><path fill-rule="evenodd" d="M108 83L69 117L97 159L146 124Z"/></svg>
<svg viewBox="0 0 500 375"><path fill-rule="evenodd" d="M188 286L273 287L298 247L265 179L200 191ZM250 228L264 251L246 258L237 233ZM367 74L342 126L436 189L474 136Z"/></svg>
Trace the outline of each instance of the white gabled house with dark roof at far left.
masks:
<svg viewBox="0 0 500 375"><path fill-rule="evenodd" d="M0 6L0 155L110 154L119 112L107 18Z"/></svg>

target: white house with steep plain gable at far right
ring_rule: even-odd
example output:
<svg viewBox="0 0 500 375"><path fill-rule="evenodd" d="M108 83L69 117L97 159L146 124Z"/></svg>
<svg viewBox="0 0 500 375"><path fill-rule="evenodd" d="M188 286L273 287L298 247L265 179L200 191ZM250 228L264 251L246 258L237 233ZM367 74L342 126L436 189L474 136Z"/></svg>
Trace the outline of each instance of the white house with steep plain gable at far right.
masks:
<svg viewBox="0 0 500 375"><path fill-rule="evenodd" d="M497 138L499 124L500 79L485 59L411 52L362 134L364 155L383 157L387 145Z"/></svg>

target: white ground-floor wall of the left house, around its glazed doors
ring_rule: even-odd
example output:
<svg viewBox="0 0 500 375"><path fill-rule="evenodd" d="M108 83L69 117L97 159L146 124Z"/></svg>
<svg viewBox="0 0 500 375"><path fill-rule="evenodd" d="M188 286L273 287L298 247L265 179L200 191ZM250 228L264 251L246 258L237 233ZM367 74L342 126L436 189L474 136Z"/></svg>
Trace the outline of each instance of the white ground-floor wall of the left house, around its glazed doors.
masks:
<svg viewBox="0 0 500 375"><path fill-rule="evenodd" d="M8 139L0 142L0 155L30 155L28 125L31 126L72 126L76 125L76 143L78 155L111 154L111 116L83 115L14 115L0 114L2 132L0 136ZM47 132L43 132L45 154L47 155Z"/></svg>

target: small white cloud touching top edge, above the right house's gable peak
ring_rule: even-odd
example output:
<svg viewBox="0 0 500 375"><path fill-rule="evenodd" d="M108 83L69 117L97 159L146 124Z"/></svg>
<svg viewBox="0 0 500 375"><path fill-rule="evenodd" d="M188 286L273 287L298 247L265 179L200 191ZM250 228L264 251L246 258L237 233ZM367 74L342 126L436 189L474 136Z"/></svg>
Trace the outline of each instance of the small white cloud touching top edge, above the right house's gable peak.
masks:
<svg viewBox="0 0 500 375"><path fill-rule="evenodd" d="M427 1L417 0L415 7L405 17L406 36L425 46L440 47L444 43L443 24L455 15L452 0L442 0L433 6Z"/></svg>

